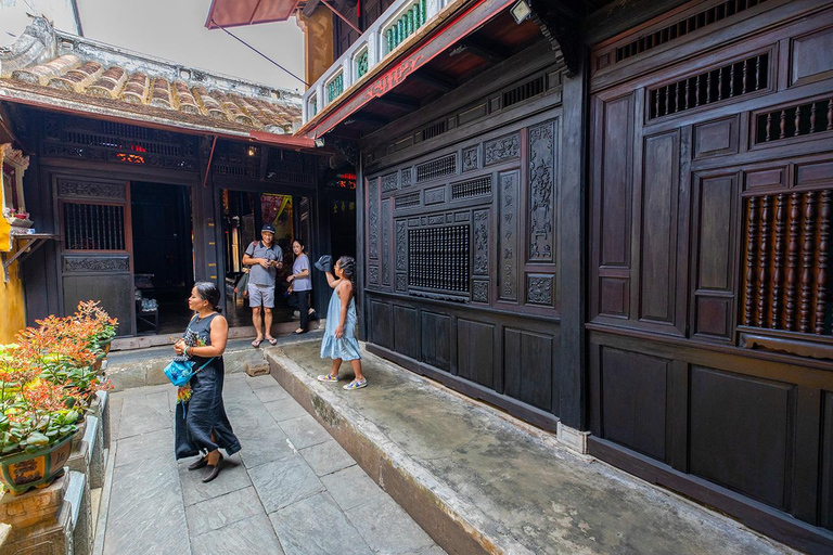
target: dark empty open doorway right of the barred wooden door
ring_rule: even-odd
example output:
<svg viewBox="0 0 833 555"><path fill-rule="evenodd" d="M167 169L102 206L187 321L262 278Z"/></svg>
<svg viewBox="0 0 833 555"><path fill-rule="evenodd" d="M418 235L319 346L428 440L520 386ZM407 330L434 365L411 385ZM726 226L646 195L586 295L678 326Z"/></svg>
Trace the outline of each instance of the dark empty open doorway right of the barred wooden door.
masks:
<svg viewBox="0 0 833 555"><path fill-rule="evenodd" d="M133 182L130 209L137 335L181 333L194 283L190 190Z"/></svg>

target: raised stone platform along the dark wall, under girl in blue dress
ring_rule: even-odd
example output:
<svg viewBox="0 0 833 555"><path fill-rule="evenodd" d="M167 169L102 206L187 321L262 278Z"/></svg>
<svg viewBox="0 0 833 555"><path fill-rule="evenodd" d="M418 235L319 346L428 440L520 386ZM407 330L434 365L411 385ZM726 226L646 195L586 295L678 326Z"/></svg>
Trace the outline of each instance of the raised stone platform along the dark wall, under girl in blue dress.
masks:
<svg viewBox="0 0 833 555"><path fill-rule="evenodd" d="M448 553L794 553L373 354L366 389L319 383L319 346L272 375Z"/></svg>

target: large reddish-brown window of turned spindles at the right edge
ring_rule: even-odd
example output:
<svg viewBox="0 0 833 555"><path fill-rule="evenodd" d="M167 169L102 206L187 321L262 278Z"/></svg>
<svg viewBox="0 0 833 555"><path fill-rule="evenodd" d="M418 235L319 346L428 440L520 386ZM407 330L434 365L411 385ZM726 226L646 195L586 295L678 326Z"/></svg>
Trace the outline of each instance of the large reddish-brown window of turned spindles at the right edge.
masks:
<svg viewBox="0 0 833 555"><path fill-rule="evenodd" d="M743 323L831 335L833 189L749 197L745 211Z"/></svg>

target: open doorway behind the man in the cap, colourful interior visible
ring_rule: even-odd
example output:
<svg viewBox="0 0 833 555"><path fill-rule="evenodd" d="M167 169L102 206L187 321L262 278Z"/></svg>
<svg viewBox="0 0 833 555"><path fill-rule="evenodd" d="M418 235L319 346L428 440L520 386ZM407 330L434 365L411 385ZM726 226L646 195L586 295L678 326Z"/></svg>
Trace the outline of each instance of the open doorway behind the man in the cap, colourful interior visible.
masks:
<svg viewBox="0 0 833 555"><path fill-rule="evenodd" d="M289 284L294 255L292 242L303 235L309 222L309 201L306 197L278 193L221 191L223 255L226 257L226 318L229 326L252 325L252 310L238 284L247 269L243 255L248 245L260 241L265 223L274 227L274 243L283 251L283 268L275 279L272 322L292 322L293 309L287 304ZM307 225L305 225L307 223ZM309 247L309 245L307 245Z"/></svg>

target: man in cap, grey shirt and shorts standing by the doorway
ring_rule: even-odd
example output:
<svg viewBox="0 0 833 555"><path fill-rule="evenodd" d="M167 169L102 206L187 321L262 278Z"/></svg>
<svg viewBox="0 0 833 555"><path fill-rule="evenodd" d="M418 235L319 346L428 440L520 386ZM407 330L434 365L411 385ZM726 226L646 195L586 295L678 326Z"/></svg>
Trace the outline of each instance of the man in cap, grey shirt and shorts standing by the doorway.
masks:
<svg viewBox="0 0 833 555"><path fill-rule="evenodd" d="M266 223L260 230L261 241L253 241L243 264L251 266L248 271L248 304L252 306L252 322L255 324L257 337L252 341L253 347L260 347L266 338L270 345L278 340L272 337L272 309L274 308L274 279L278 269L283 267L283 250L274 244L274 228ZM260 326L262 308L264 326Z"/></svg>

